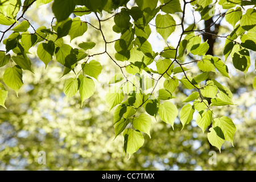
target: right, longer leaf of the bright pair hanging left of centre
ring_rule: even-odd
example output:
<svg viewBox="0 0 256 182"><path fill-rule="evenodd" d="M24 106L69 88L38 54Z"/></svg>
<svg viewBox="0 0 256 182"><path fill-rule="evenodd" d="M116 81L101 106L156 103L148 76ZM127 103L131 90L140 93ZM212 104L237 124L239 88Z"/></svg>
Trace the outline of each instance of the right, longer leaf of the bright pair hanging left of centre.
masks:
<svg viewBox="0 0 256 182"><path fill-rule="evenodd" d="M80 86L79 86L79 94L81 97L81 107L82 103L88 99L90 96L93 95L95 91L95 84L92 78L85 77L82 75L79 75L79 81L80 81Z"/></svg>

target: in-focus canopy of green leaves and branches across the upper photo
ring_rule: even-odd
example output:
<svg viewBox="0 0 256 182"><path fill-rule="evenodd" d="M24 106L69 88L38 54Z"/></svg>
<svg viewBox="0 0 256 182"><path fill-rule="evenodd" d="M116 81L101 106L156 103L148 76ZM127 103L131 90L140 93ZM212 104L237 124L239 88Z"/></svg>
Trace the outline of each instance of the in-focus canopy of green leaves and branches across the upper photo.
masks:
<svg viewBox="0 0 256 182"><path fill-rule="evenodd" d="M23 85L23 72L34 73L28 56L31 47L36 47L37 56L45 67L51 61L60 63L64 69L63 76L70 75L64 82L63 92L68 98L79 92L81 107L95 92L95 83L104 70L101 60L92 58L105 54L119 70L110 78L106 103L109 111L114 109L115 138L123 133L123 151L129 154L129 158L143 146L143 133L151 137L152 119L157 116L172 129L178 116L181 130L185 130L197 111L196 123L203 133L209 129L207 137L212 146L221 150L225 141L233 144L236 126L231 118L217 115L214 109L216 106L234 105L232 92L220 81L222 77L231 79L226 59L230 56L233 67L245 76L251 66L250 53L256 50L255 1L136 0L130 5L128 0L54 0L52 12L55 17L49 27L33 26L26 18L26 11L34 3L39 7L51 1L0 2L0 24L7 26L1 30L0 39L0 43L5 45L5 50L0 51L0 66L5 67L3 84L0 85L1 106L5 107L8 98L9 90L6 88L13 89L18 96ZM216 6L225 13L216 14ZM193 16L193 22L185 24L189 8L192 14L198 11L201 19ZM108 18L102 19L105 13ZM75 18L71 18L71 14L75 14ZM96 16L97 24L81 20L92 14ZM215 20L208 27L197 28L199 20L213 17ZM207 30L222 18L233 30L226 36L209 33ZM114 26L108 31L119 34L117 40L108 40L102 30L102 23L111 20ZM105 44L103 52L90 54L90 49L97 44L94 42L80 41L77 47L64 42L69 37L72 43L86 34L88 28L100 32ZM154 43L148 40L152 28L166 42L161 51L155 51ZM177 38L172 37L175 32L179 34ZM203 39L205 34L225 40L221 56L209 54L208 40ZM170 45L172 39L176 41L174 45ZM109 46L114 47L114 55L109 52ZM192 61L185 61L187 56ZM189 66L194 63L200 72L192 76ZM212 74L216 76L211 77ZM254 88L255 80L256 77L251 81ZM191 92L183 100L188 103L180 111L172 101L178 97L175 91L179 86Z"/></svg>

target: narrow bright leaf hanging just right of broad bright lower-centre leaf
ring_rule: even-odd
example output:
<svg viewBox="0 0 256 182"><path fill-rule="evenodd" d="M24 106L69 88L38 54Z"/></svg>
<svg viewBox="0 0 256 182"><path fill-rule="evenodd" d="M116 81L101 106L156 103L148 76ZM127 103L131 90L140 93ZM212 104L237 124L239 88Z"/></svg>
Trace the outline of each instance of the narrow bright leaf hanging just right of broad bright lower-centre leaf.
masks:
<svg viewBox="0 0 256 182"><path fill-rule="evenodd" d="M184 126L187 125L192 119L193 114L195 113L195 109L191 104L184 105L180 110L180 121L183 125L182 129L184 129Z"/></svg>

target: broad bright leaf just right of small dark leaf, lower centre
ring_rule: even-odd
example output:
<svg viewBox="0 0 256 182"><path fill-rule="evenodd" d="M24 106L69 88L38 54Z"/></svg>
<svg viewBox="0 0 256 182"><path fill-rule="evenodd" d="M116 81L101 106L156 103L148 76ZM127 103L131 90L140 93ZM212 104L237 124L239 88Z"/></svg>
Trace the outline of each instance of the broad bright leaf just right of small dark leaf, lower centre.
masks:
<svg viewBox="0 0 256 182"><path fill-rule="evenodd" d="M159 105L158 114L160 119L169 123L172 126L172 129L174 129L174 121L177 117L177 113L177 107L171 102L166 101L164 104Z"/></svg>

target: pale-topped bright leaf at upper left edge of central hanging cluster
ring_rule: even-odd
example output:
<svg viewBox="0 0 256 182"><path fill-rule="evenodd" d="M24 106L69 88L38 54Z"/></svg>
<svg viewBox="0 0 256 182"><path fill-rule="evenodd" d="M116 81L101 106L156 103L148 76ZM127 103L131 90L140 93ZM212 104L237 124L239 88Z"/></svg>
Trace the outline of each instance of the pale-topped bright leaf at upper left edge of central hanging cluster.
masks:
<svg viewBox="0 0 256 182"><path fill-rule="evenodd" d="M113 87L109 89L109 92L106 94L106 102L109 105L109 111L116 105L120 104L125 95L122 92L121 88Z"/></svg>

